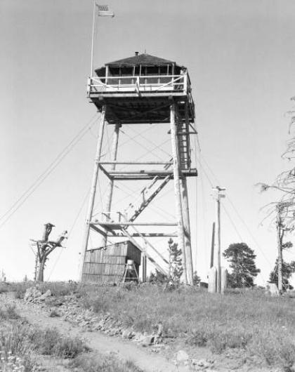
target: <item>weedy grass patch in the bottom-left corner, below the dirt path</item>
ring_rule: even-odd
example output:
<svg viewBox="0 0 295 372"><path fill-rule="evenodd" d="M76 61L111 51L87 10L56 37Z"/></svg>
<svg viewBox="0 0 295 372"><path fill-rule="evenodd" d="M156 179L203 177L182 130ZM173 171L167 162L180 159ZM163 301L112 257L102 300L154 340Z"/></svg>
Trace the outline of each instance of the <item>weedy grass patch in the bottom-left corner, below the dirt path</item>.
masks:
<svg viewBox="0 0 295 372"><path fill-rule="evenodd" d="M1 372L39 371L32 352L72 359L69 368L75 372L140 372L129 361L98 353L89 355L89 350L82 340L62 336L56 328L42 330L27 324L11 305L0 308Z"/></svg>

